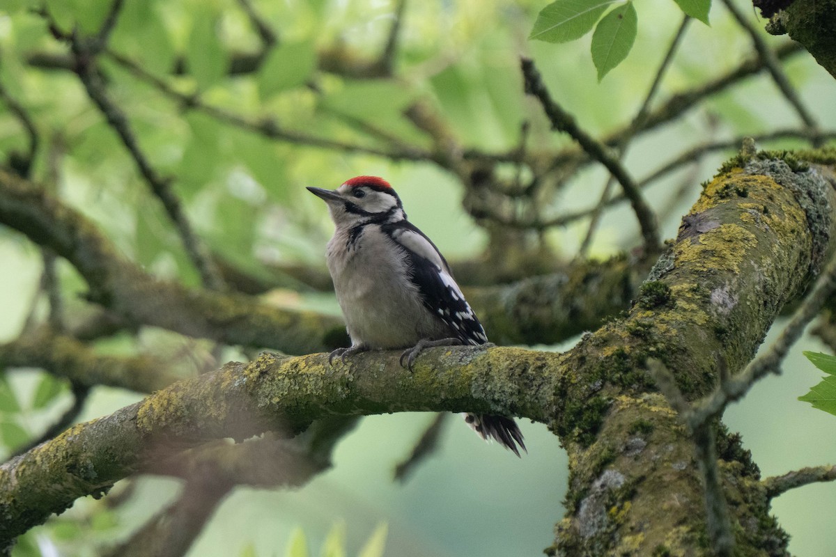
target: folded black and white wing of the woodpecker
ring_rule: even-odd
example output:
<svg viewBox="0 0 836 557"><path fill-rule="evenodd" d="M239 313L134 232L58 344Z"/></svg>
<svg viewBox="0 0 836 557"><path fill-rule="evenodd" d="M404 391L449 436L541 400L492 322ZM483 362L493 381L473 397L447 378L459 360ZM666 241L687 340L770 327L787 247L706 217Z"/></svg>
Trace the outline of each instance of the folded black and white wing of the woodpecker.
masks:
<svg viewBox="0 0 836 557"><path fill-rule="evenodd" d="M436 245L408 220L380 228L404 249L412 267L410 278L418 286L424 306L450 326L451 336L465 344L486 343L482 323L453 280L450 267Z"/></svg>

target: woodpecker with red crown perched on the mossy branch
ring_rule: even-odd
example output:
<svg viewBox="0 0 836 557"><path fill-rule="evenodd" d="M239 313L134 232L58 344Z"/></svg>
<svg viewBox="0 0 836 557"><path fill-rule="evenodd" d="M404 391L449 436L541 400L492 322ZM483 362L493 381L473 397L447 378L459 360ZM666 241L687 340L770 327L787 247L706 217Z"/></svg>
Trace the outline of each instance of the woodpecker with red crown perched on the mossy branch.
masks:
<svg viewBox="0 0 836 557"><path fill-rule="evenodd" d="M487 342L444 256L406 219L389 182L357 176L336 190L308 191L328 204L334 220L328 270L351 337L351 346L331 352L329 362L405 348L400 365L411 370L425 348ZM464 418L483 439L496 439L517 456L517 445L526 450L512 418L472 413Z"/></svg>

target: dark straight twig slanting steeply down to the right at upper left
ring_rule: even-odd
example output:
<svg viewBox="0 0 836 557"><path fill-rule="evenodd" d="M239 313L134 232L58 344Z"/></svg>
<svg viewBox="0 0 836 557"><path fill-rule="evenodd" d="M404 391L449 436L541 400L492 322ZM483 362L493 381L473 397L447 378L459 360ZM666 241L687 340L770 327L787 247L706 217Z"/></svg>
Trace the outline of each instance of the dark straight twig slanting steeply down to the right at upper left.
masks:
<svg viewBox="0 0 836 557"><path fill-rule="evenodd" d="M140 149L140 145L130 129L127 117L108 97L104 83L95 68L94 58L91 58L89 50L78 38L71 39L71 46L77 60L76 73L84 84L84 89L87 91L90 100L99 108L110 127L119 135L122 144L128 149L145 182L148 183L157 198L161 200L166 213L168 213L181 236L183 246L186 248L191 262L200 273L203 284L213 290L222 290L221 274L214 261L212 261L208 249L194 233L194 230L191 229L191 223L186 218L180 199L171 191L171 180L158 175L145 153Z"/></svg>

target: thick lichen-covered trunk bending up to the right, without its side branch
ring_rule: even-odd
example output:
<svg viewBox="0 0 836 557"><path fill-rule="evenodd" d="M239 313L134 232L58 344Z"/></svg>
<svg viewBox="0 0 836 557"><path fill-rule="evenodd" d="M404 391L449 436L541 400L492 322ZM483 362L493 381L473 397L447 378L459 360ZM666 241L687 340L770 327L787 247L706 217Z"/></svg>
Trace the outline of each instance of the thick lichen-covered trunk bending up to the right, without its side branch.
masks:
<svg viewBox="0 0 836 557"><path fill-rule="evenodd" d="M705 511L693 439L664 397L643 394L650 386L641 369L664 358L688 399L713 390L717 357L740 370L782 305L818 271L833 232L824 215L836 206L818 170L793 171L769 156L737 164L745 168L729 165L706 185L629 316L568 352L556 431L571 480L555 554L688 553L706 536L705 522L694 519ZM774 548L786 537L751 519L766 516L768 503L750 481L757 468L741 455L720 454L735 461L721 463L726 498L736 502L732 532L738 547Z"/></svg>

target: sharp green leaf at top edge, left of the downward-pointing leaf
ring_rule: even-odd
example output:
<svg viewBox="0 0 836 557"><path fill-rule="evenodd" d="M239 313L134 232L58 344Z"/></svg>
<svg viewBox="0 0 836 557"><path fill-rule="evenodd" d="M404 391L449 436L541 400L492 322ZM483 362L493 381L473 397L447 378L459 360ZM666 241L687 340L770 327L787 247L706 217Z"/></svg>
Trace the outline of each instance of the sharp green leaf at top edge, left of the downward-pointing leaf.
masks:
<svg viewBox="0 0 836 557"><path fill-rule="evenodd" d="M557 0L543 8L528 38L568 43L592 30L604 9L615 0Z"/></svg>

